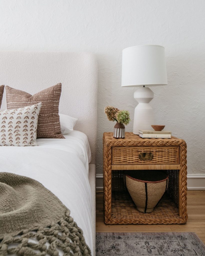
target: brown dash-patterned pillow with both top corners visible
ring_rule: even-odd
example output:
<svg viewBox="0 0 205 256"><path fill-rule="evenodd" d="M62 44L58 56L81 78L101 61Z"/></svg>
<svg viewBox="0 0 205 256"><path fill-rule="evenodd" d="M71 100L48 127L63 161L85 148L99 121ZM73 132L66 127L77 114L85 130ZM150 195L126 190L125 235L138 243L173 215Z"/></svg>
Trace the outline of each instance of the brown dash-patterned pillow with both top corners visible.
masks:
<svg viewBox="0 0 205 256"><path fill-rule="evenodd" d="M37 138L64 138L60 130L58 105L61 83L40 91L33 96L27 92L6 86L7 108L23 108L42 102L38 117Z"/></svg>

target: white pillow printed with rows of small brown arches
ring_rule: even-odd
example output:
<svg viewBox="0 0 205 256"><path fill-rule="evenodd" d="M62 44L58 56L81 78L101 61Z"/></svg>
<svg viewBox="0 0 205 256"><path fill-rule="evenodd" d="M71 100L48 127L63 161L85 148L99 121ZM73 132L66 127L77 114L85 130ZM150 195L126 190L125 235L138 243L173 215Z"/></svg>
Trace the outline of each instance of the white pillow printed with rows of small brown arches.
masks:
<svg viewBox="0 0 205 256"><path fill-rule="evenodd" d="M38 146L36 128L41 102L24 108L0 111L0 146Z"/></svg>

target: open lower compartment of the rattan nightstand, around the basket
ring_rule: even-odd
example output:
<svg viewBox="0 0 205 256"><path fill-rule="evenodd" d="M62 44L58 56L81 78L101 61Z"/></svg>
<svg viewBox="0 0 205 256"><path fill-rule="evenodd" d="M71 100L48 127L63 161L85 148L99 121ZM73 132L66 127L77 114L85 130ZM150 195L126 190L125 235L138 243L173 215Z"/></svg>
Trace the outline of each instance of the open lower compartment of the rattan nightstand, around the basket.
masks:
<svg viewBox="0 0 205 256"><path fill-rule="evenodd" d="M178 185L178 182L175 182L178 178L178 170L167 170L170 180L168 190L154 208L153 212L149 214L144 214L137 210L124 185L123 173L124 172L122 170L112 171L111 219L115 219L119 222L123 220L123 223L130 221L132 221L132 223L143 223L140 221L140 219L143 218L145 220L149 219L148 224L152 224L150 221L153 221L153 223L157 221L158 224L164 223L164 219L167 219L167 224L173 223L174 219L176 223L180 221L181 218L179 217L177 203L178 193L175 195L170 193L174 190L174 187L172 187L173 184L175 184L175 189Z"/></svg>

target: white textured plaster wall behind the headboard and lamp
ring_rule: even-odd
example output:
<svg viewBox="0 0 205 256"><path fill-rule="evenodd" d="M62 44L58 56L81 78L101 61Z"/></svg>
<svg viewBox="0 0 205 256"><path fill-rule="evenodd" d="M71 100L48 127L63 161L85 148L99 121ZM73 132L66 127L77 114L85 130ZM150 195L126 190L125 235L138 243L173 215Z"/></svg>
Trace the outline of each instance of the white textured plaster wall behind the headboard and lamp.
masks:
<svg viewBox="0 0 205 256"><path fill-rule="evenodd" d="M129 110L133 118L136 105L135 88L121 88L122 49L163 45L168 86L152 88L156 124L186 140L188 173L205 173L204 0L0 0L0 7L0 50L97 55L98 173L102 134L114 126L104 106ZM126 130L132 131L132 122Z"/></svg>

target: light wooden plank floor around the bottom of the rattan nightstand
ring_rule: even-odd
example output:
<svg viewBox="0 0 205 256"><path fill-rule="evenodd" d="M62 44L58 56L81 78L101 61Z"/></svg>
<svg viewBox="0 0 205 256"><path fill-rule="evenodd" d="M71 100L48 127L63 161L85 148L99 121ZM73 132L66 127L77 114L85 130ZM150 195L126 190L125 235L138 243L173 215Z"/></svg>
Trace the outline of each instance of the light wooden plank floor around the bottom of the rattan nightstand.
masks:
<svg viewBox="0 0 205 256"><path fill-rule="evenodd" d="M106 225L103 221L103 193L96 191L96 232L195 232L205 243L205 190L188 190L186 224Z"/></svg>

